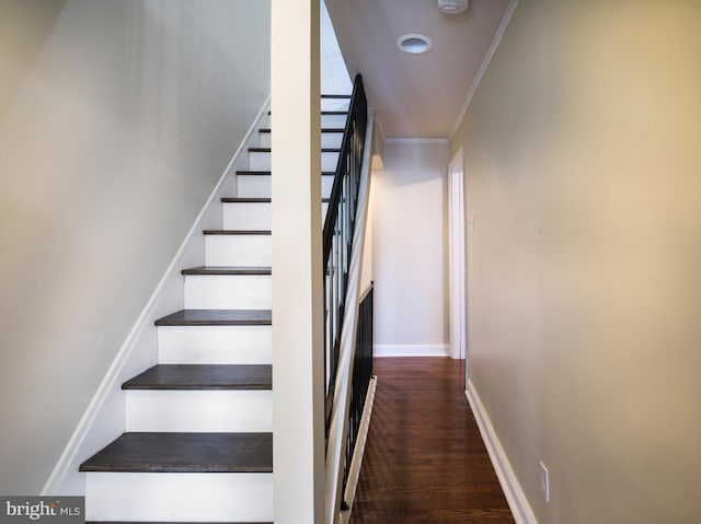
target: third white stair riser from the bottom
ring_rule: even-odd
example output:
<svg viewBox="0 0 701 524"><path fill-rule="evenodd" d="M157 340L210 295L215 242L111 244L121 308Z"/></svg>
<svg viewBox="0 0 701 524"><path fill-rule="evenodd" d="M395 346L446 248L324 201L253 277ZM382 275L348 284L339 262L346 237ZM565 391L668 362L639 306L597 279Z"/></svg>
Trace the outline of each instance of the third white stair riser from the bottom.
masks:
<svg viewBox="0 0 701 524"><path fill-rule="evenodd" d="M271 326L160 326L161 364L272 364Z"/></svg>

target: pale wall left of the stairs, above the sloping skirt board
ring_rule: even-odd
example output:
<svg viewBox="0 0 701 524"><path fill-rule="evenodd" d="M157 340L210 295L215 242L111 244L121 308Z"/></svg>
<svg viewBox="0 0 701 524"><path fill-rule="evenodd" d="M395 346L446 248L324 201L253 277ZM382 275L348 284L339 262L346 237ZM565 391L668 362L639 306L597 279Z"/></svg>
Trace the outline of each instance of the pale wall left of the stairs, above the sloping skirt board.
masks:
<svg viewBox="0 0 701 524"><path fill-rule="evenodd" d="M32 494L267 95L269 2L0 20L0 492Z"/></svg>

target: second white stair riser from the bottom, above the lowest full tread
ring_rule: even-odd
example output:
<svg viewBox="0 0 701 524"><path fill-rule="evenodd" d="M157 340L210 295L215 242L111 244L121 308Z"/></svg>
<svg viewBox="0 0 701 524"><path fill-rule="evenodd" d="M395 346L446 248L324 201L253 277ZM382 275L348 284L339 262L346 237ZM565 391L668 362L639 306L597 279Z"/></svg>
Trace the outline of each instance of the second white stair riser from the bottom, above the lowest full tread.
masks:
<svg viewBox="0 0 701 524"><path fill-rule="evenodd" d="M129 389L126 394L127 431L273 431L271 391Z"/></svg>

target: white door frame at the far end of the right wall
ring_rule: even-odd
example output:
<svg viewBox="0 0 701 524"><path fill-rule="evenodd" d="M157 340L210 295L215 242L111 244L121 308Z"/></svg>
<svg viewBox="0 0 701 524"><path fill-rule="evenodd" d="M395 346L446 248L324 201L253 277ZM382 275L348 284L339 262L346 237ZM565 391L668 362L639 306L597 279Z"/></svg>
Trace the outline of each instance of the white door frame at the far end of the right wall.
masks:
<svg viewBox="0 0 701 524"><path fill-rule="evenodd" d="M462 148L448 164L448 221L450 233L450 357L452 359L466 359L467 361L468 319L466 307L466 216Z"/></svg>

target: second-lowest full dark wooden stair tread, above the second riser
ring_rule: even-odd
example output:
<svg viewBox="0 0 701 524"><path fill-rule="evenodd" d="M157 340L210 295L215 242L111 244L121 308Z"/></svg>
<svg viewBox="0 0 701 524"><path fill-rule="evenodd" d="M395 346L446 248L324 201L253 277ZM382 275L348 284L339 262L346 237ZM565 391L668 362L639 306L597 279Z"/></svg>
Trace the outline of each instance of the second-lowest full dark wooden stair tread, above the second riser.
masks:
<svg viewBox="0 0 701 524"><path fill-rule="evenodd" d="M122 389L272 389L269 364L158 364Z"/></svg>

